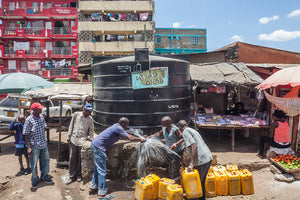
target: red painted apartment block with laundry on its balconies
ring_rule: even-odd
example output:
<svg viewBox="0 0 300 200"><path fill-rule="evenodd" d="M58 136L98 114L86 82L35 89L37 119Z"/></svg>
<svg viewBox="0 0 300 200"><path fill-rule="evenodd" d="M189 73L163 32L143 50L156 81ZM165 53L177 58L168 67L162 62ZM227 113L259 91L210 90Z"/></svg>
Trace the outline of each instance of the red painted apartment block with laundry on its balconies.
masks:
<svg viewBox="0 0 300 200"><path fill-rule="evenodd" d="M0 73L77 78L77 24L77 0L2 0Z"/></svg>

